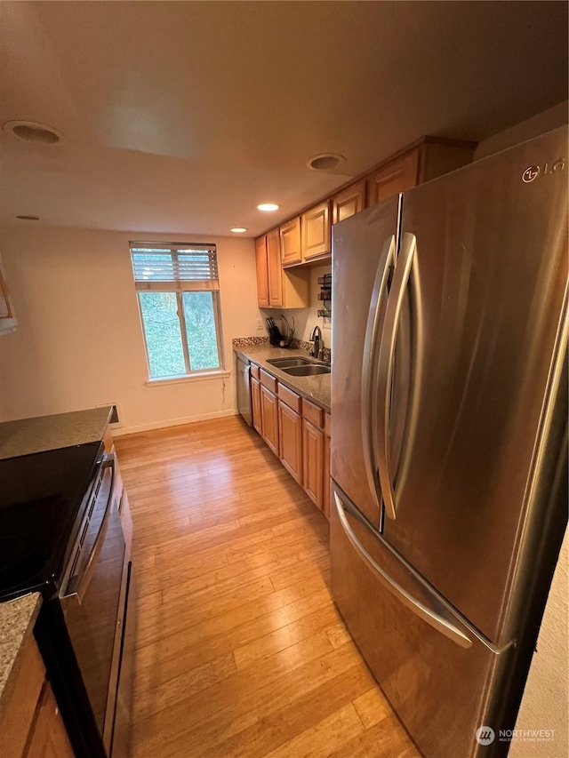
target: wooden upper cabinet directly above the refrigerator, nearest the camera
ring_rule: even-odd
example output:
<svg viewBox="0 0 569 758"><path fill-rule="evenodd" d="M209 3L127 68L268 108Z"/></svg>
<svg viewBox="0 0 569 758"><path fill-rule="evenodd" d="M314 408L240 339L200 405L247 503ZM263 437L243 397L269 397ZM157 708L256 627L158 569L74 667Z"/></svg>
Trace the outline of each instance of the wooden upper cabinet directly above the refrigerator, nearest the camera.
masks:
<svg viewBox="0 0 569 758"><path fill-rule="evenodd" d="M469 164L475 148L475 142L424 137L369 174L367 205Z"/></svg>

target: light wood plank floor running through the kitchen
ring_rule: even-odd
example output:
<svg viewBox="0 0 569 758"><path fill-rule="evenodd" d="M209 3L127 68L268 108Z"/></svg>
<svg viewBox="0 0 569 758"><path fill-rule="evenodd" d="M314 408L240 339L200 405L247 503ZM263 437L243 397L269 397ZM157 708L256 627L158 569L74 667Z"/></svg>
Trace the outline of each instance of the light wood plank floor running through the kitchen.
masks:
<svg viewBox="0 0 569 758"><path fill-rule="evenodd" d="M116 438L133 758L417 758L329 592L328 523L240 419Z"/></svg>

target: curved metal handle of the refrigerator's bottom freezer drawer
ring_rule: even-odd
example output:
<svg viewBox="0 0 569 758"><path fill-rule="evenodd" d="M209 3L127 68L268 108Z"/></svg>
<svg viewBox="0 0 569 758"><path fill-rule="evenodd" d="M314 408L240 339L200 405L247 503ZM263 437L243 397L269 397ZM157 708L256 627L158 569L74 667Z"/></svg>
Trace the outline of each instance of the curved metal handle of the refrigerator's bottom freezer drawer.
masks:
<svg viewBox="0 0 569 758"><path fill-rule="evenodd" d="M336 504L336 511L338 512L341 526L346 532L346 537L349 539L352 547L354 547L357 555L365 563L365 565L370 570L372 570L377 578L381 581L381 583L389 589L389 592L391 594L394 594L397 599L400 602L403 602L407 608L413 610L413 613L415 615L422 618L423 621L426 621L430 626L433 626L433 628L437 629L437 631L441 634L445 634L445 637L448 637L449 640L456 642L456 644L460 645L461 648L471 648L472 640L470 640L466 634L462 634L460 629L458 629L456 626L453 626L453 624L440 616L435 610L431 610L427 606L423 605L422 602L419 602L416 598L413 597L412 594L409 594L401 585L397 584L394 579L389 577L389 575L386 574L383 569L381 569L381 566L378 565L378 563L375 563L373 557L367 552L365 547L357 539L354 531L352 531L348 519L346 518L346 514L344 513L344 507L342 505L341 499L338 497L338 494L336 492L334 492L334 502Z"/></svg>

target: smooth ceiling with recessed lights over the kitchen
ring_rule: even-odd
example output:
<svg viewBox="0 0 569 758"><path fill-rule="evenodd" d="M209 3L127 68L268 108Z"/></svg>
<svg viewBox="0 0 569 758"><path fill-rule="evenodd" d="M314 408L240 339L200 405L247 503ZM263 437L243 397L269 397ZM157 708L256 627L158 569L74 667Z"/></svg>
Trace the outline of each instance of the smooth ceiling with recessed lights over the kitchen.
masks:
<svg viewBox="0 0 569 758"><path fill-rule="evenodd" d="M258 235L424 134L567 97L567 4L2 2L2 220ZM309 156L347 157L342 172ZM270 217L257 203L273 201Z"/></svg>

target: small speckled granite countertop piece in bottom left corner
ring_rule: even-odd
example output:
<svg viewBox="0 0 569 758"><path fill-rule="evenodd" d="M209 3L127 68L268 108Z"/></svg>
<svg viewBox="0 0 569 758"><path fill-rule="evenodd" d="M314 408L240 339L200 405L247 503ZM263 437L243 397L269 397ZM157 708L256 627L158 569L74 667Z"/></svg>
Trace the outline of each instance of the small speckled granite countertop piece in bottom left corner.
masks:
<svg viewBox="0 0 569 758"><path fill-rule="evenodd" d="M10 698L18 673L22 642L36 623L42 604L38 592L26 594L10 602L0 602L0 708Z"/></svg>

